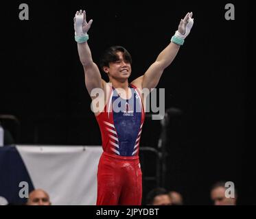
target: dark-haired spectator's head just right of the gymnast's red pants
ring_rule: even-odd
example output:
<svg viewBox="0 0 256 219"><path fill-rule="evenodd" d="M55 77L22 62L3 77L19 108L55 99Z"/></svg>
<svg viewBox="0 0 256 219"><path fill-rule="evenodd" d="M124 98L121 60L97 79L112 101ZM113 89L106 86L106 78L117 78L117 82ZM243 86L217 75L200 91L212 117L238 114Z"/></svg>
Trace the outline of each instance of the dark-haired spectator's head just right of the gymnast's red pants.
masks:
<svg viewBox="0 0 256 219"><path fill-rule="evenodd" d="M155 188L148 192L147 205L172 205L172 200L165 188Z"/></svg>

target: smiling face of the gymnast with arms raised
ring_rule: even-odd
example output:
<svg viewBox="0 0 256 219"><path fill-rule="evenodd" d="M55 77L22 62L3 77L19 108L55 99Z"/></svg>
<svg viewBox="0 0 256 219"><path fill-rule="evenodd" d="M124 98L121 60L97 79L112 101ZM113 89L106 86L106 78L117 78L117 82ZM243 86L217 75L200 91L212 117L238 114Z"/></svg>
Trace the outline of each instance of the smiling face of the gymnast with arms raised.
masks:
<svg viewBox="0 0 256 219"><path fill-rule="evenodd" d="M132 68L130 62L124 60L124 53L118 51L117 56L119 57L119 60L110 62L109 67L104 66L103 69L105 73L108 74L109 79L113 78L117 81L125 81L130 77Z"/></svg>

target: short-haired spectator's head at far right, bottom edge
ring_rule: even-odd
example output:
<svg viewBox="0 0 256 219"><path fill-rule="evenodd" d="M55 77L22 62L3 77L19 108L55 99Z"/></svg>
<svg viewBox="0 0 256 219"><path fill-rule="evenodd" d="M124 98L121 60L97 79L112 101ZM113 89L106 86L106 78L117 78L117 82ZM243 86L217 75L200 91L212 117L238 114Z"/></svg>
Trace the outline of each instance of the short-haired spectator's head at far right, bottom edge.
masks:
<svg viewBox="0 0 256 219"><path fill-rule="evenodd" d="M226 187L224 181L218 181L211 187L211 200L213 205L236 205L237 193L235 192L235 198L227 198L225 196Z"/></svg>

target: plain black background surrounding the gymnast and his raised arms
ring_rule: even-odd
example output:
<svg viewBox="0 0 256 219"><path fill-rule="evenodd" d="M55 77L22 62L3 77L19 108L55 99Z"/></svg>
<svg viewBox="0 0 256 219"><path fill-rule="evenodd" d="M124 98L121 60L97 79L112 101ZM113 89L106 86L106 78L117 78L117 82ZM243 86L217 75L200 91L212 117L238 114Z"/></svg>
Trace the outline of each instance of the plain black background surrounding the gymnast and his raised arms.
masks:
<svg viewBox="0 0 256 219"><path fill-rule="evenodd" d="M29 21L19 20L20 3L29 5ZM226 3L235 5L235 21L224 18ZM157 86L165 88L165 108L183 112L168 127L164 186L181 192L189 205L208 205L212 183L233 181L238 203L255 204L255 142L249 142L255 123L248 114L254 112L254 75L248 71L252 7L248 1L5 3L0 114L19 118L19 144L100 145L73 37L75 11L84 9L87 20L93 18L89 45L96 63L109 46L130 51L130 81L145 73L191 11L191 34ZM147 120L141 146L157 148L160 131L159 121ZM150 189L145 188L143 196Z"/></svg>

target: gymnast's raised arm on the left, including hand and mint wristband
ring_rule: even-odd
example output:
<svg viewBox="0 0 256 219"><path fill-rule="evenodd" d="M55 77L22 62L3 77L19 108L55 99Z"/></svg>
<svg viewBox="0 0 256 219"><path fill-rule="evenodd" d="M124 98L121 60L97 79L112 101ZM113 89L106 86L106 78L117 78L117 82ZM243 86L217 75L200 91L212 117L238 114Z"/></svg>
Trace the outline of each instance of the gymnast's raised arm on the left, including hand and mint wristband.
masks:
<svg viewBox="0 0 256 219"><path fill-rule="evenodd" d="M89 94L91 94L93 88L102 88L102 83L104 82L99 68L93 62L91 50L87 42L89 39L87 32L91 27L91 23L93 23L93 20L90 20L89 23L86 22L85 11L82 12L80 10L80 12L76 12L74 17L75 41L78 42L78 54L80 62L84 67L85 85Z"/></svg>

